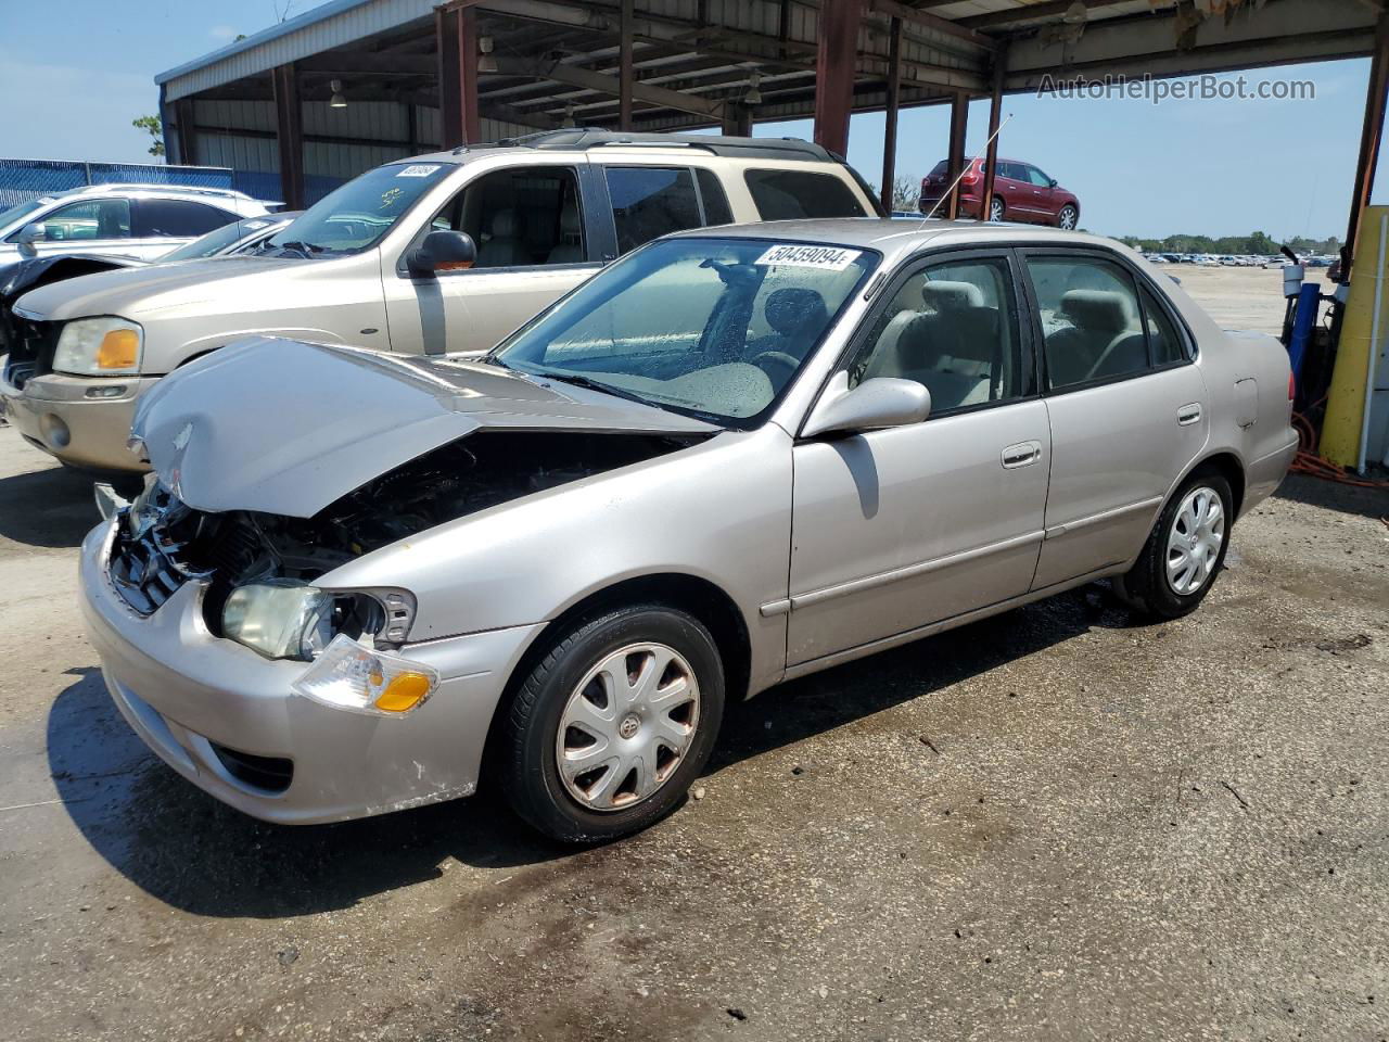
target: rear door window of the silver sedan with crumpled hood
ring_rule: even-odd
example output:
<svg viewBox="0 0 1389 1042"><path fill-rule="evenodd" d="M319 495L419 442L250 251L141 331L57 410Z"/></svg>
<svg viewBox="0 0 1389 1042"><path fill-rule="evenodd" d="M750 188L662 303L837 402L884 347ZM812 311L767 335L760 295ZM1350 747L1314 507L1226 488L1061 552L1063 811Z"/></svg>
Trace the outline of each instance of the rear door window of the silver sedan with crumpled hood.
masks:
<svg viewBox="0 0 1389 1042"><path fill-rule="evenodd" d="M1028 256L1026 265L1050 389L1147 371L1138 288L1125 268L1088 256Z"/></svg>

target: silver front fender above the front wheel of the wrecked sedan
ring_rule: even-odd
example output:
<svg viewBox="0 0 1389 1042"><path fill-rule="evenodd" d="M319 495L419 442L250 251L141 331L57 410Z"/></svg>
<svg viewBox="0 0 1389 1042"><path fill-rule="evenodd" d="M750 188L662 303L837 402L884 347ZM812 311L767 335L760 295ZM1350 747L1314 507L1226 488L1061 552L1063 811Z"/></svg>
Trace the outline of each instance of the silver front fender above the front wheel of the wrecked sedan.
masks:
<svg viewBox="0 0 1389 1042"><path fill-rule="evenodd" d="M410 640L554 620L625 579L706 579L738 606L753 693L785 667L792 439L767 424L432 528L350 561L324 588L404 586Z"/></svg>

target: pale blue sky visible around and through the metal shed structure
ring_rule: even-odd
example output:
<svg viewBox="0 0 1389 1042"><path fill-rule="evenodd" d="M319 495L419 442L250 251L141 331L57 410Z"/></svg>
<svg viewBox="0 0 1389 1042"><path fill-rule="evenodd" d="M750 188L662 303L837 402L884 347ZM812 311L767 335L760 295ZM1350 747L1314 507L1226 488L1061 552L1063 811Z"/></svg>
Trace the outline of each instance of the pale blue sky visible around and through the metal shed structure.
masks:
<svg viewBox="0 0 1389 1042"><path fill-rule="evenodd" d="M275 22L285 0L0 0L0 156L140 160L131 119L153 113L154 74ZM292 14L311 10L300 0ZM1343 235L1368 60L1283 67L1249 79L1310 79L1314 100L1065 100L1014 96L1003 154L1036 163L1081 197L1106 235ZM971 106L970 154L988 104ZM882 115L854 117L849 158L882 169ZM946 151L945 107L903 113L897 169L925 174ZM810 136L808 122L757 133ZM1381 164L1381 168L1389 163ZM1376 201L1389 181L1381 176Z"/></svg>

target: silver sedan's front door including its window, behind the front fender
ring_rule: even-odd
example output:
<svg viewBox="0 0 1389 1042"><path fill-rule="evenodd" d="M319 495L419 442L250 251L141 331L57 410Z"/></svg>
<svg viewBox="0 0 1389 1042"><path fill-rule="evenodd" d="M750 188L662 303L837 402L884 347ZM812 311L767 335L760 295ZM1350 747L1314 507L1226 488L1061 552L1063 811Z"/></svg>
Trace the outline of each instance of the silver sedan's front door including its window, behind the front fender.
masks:
<svg viewBox="0 0 1389 1042"><path fill-rule="evenodd" d="M920 424L799 439L788 665L1026 593L1050 465L1008 250L904 270L849 352L850 386L914 379Z"/></svg>

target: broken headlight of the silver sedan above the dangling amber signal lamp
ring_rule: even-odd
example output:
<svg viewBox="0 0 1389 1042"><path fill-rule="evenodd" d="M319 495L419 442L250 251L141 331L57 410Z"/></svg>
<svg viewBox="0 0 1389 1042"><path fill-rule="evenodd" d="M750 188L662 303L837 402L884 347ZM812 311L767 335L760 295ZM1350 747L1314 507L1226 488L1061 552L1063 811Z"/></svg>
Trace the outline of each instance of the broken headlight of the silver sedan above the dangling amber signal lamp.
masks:
<svg viewBox="0 0 1389 1042"><path fill-rule="evenodd" d="M238 586L222 607L222 635L267 659L313 661L339 634L375 636L386 613L364 593L332 593L296 579Z"/></svg>

